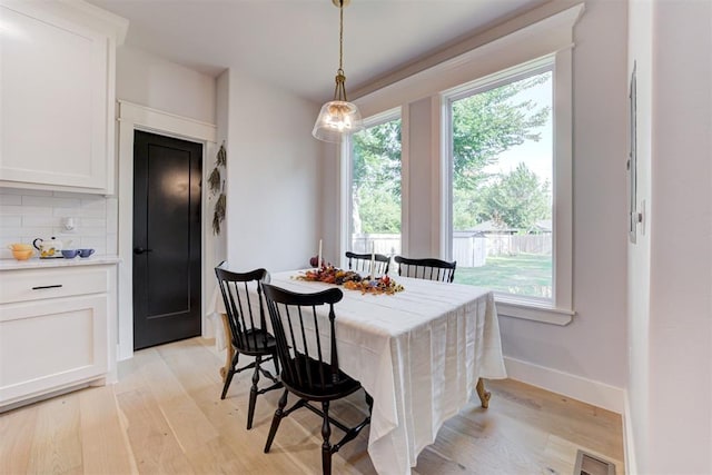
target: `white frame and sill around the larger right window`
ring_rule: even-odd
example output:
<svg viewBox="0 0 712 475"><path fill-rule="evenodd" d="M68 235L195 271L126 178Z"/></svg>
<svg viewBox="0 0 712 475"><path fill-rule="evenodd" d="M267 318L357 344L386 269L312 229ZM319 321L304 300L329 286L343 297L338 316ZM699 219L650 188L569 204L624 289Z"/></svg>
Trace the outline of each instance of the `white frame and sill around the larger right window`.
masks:
<svg viewBox="0 0 712 475"><path fill-rule="evenodd" d="M439 93L441 111L441 254L452 258L453 240L453 150L451 105L457 99L514 82L543 71L552 71L552 298L516 296L495 291L502 315L567 325L573 309L573 186L572 186L572 73L571 49L477 78Z"/></svg>

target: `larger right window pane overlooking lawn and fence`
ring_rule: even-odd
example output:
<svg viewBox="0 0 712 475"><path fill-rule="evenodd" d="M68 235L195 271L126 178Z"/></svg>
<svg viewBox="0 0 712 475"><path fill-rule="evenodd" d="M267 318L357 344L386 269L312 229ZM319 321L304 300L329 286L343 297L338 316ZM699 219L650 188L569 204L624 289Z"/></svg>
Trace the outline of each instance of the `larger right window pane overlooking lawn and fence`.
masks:
<svg viewBox="0 0 712 475"><path fill-rule="evenodd" d="M451 101L455 281L552 298L552 72Z"/></svg>

